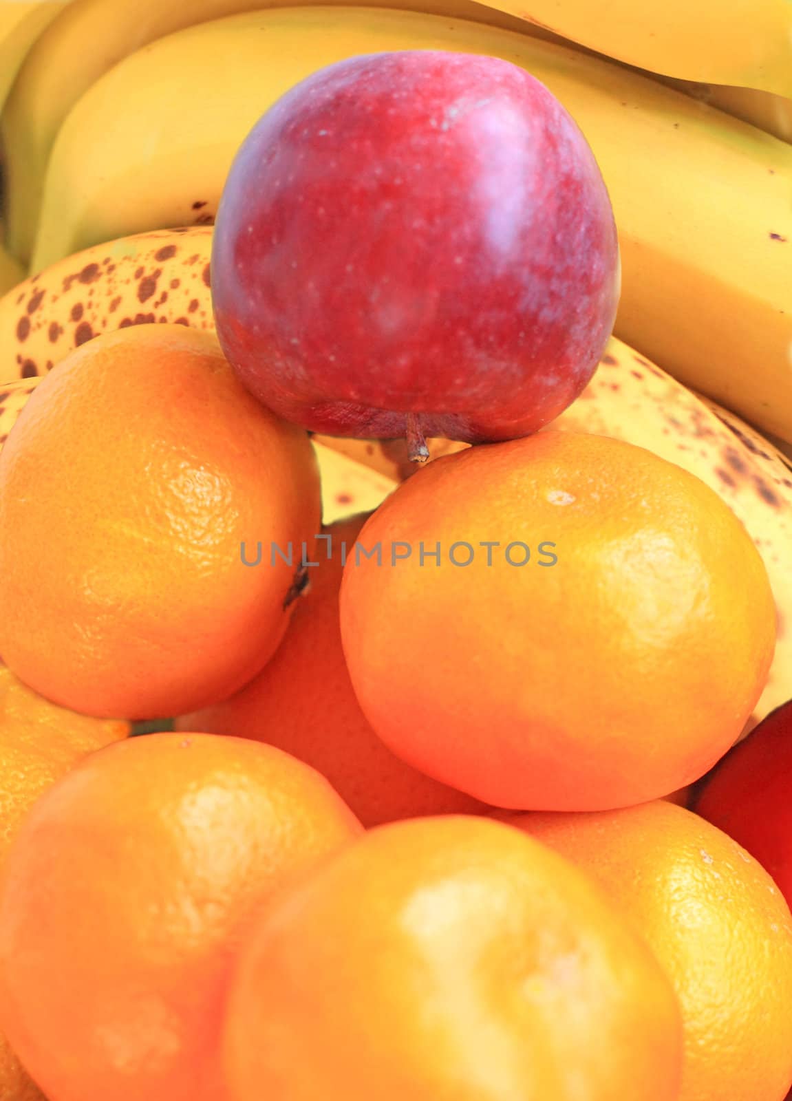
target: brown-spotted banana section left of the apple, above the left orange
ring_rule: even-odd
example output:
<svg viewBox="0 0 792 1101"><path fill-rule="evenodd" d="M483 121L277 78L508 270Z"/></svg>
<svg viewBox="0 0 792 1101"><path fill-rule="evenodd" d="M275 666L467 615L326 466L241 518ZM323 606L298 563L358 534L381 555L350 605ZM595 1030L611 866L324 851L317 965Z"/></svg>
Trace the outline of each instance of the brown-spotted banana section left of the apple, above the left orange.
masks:
<svg viewBox="0 0 792 1101"><path fill-rule="evenodd" d="M211 229L159 230L87 249L0 298L0 380L43 374L105 330L150 321L214 329Z"/></svg>

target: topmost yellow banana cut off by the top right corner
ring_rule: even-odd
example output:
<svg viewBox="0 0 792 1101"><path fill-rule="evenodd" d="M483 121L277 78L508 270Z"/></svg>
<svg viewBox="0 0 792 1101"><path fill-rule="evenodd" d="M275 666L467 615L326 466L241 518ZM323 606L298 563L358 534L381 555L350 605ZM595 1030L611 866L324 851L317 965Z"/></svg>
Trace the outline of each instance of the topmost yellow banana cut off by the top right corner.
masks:
<svg viewBox="0 0 792 1101"><path fill-rule="evenodd" d="M486 0L628 65L792 96L789 0Z"/></svg>

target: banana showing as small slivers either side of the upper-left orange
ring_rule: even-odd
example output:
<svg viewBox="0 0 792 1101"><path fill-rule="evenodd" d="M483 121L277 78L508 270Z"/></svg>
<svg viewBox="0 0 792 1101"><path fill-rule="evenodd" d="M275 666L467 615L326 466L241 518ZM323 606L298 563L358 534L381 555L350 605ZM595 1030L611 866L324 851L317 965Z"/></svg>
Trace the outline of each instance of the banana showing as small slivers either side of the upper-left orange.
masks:
<svg viewBox="0 0 792 1101"><path fill-rule="evenodd" d="M41 377L0 385L0 450ZM314 440L322 478L322 521L333 524L358 512L369 512L397 488L393 478L370 470L346 455Z"/></svg>

